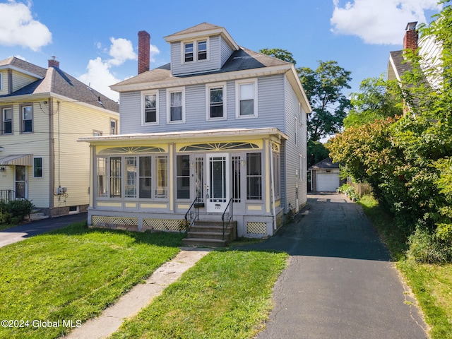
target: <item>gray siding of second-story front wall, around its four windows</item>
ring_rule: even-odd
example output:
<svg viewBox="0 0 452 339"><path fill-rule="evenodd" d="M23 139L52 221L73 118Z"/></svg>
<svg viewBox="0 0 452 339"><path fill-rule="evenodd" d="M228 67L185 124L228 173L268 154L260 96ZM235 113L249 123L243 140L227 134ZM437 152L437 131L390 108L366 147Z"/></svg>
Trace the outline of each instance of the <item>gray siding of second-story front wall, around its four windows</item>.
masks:
<svg viewBox="0 0 452 339"><path fill-rule="evenodd" d="M237 119L235 117L235 81L228 81L227 119L206 121L206 85L185 88L185 124L167 124L166 90L158 91L158 125L141 123L141 93L121 93L121 133L155 133L161 131L196 131L203 129L262 128L275 127L285 132L284 81L285 76L258 78L258 117Z"/></svg>

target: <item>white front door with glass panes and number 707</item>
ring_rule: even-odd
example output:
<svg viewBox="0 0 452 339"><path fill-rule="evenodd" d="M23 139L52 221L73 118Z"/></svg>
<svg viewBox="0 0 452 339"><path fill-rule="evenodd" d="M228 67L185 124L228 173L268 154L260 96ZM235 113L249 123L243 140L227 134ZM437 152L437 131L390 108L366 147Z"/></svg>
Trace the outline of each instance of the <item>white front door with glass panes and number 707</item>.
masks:
<svg viewBox="0 0 452 339"><path fill-rule="evenodd" d="M208 154L207 166L206 211L223 213L230 198L229 154Z"/></svg>

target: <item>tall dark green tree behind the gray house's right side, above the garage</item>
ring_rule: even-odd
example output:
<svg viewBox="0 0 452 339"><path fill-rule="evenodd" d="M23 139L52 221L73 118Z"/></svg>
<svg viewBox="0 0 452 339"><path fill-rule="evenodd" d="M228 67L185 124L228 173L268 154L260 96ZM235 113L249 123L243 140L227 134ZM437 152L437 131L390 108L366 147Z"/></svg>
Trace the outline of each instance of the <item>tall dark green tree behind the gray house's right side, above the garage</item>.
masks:
<svg viewBox="0 0 452 339"><path fill-rule="evenodd" d="M309 140L319 141L338 133L351 107L343 94L345 88L350 88L351 72L337 61L319 61L316 70L300 67L297 72L313 111L307 122Z"/></svg>

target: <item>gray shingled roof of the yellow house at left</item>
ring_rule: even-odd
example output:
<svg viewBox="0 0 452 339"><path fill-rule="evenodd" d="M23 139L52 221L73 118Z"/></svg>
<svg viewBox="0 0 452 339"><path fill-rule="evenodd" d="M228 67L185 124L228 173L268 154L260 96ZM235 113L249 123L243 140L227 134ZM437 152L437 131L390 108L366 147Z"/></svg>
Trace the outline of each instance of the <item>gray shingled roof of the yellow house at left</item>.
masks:
<svg viewBox="0 0 452 339"><path fill-rule="evenodd" d="M0 66L1 65L11 65L14 66L15 69L39 73L38 75L40 75L40 78L37 81L16 90L16 92L8 95L0 95L0 100L2 98L15 97L18 95L53 93L55 95L67 97L74 102L84 102L95 107L119 112L119 104L117 102L114 102L114 100L109 99L109 97L93 90L93 88L89 88L88 85L78 81L68 73L61 71L58 67L43 69L42 67L35 66L27 61L14 57L0 61Z"/></svg>

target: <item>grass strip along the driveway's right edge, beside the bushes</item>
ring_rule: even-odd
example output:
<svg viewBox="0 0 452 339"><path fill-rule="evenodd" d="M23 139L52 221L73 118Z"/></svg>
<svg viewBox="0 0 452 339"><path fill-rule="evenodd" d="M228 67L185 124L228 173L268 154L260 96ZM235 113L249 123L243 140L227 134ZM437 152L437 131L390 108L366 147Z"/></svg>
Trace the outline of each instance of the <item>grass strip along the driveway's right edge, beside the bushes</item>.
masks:
<svg viewBox="0 0 452 339"><path fill-rule="evenodd" d="M431 327L432 339L452 339L452 263L416 263L405 256L407 236L392 223L391 216L370 196L359 203L391 251L396 266L412 288Z"/></svg>

